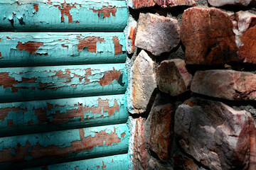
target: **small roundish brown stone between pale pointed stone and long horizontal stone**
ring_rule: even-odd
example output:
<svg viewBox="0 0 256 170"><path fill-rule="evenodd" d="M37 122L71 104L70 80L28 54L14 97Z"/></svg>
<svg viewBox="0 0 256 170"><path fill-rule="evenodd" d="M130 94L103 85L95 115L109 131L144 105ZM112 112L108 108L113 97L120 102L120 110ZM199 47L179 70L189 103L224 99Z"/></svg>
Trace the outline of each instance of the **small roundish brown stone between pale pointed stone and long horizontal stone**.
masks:
<svg viewBox="0 0 256 170"><path fill-rule="evenodd" d="M184 60L164 60L156 70L156 83L159 90L171 96L188 91L192 75L188 73Z"/></svg>

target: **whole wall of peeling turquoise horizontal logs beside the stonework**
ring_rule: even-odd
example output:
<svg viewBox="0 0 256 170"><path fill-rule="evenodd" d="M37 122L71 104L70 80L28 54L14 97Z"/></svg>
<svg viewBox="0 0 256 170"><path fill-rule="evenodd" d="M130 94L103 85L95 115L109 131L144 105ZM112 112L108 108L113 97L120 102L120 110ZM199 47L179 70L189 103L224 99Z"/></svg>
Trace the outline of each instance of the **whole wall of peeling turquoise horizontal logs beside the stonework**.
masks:
<svg viewBox="0 0 256 170"><path fill-rule="evenodd" d="M0 169L128 169L122 0L0 1Z"/></svg>

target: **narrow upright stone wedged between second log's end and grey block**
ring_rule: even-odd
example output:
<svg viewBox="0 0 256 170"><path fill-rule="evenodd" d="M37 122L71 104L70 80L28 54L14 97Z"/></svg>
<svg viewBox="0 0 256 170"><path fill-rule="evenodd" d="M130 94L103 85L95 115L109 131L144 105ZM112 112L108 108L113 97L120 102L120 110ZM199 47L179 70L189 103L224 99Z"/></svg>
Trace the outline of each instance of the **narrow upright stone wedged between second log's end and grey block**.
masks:
<svg viewBox="0 0 256 170"><path fill-rule="evenodd" d="M134 44L135 44L136 28L137 28L137 21L135 21L134 18L132 18L132 16L129 16L127 28L125 29L126 50L128 54L134 53L134 50L135 50Z"/></svg>

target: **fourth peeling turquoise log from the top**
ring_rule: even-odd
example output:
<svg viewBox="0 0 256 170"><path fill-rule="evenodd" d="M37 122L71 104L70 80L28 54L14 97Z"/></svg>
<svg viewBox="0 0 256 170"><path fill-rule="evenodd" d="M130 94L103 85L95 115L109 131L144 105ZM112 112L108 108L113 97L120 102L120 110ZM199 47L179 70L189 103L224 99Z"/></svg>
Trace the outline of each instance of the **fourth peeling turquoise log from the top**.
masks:
<svg viewBox="0 0 256 170"><path fill-rule="evenodd" d="M126 123L125 95L0 103L0 137Z"/></svg>

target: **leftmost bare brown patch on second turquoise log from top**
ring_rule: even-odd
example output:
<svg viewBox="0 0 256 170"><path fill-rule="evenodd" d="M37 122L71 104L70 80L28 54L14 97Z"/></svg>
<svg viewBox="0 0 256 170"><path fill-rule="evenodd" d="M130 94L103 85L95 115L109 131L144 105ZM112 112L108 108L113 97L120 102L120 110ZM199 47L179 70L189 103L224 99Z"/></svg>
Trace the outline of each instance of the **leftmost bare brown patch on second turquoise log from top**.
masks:
<svg viewBox="0 0 256 170"><path fill-rule="evenodd" d="M16 48L19 51L25 50L26 52L29 52L30 55L33 55L33 54L36 54L36 51L41 46L43 46L43 42L28 41L25 43L18 42L18 45Z"/></svg>

